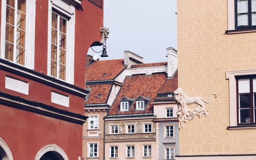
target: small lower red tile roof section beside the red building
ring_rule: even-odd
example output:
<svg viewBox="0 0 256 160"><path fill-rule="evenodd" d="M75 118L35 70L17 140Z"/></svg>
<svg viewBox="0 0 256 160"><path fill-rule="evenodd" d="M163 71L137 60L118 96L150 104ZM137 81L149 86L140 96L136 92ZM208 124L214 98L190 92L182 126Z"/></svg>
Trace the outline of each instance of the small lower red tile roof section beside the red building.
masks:
<svg viewBox="0 0 256 160"><path fill-rule="evenodd" d="M85 104L103 104L107 103L112 84L87 85L86 89L88 88L92 90Z"/></svg>

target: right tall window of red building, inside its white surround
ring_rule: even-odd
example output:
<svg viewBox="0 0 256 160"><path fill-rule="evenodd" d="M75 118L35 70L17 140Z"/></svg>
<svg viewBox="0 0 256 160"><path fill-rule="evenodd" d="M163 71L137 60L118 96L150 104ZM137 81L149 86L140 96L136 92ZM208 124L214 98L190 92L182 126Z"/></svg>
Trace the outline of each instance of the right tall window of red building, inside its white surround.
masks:
<svg viewBox="0 0 256 160"><path fill-rule="evenodd" d="M67 19L52 12L51 75L66 80Z"/></svg>

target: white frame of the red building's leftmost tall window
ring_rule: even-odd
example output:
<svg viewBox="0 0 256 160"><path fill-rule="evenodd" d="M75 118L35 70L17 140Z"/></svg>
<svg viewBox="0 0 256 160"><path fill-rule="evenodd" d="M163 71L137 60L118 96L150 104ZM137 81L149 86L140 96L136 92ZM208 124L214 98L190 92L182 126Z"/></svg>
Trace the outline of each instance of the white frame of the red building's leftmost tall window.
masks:
<svg viewBox="0 0 256 160"><path fill-rule="evenodd" d="M5 21L6 21L6 0L2 0L1 5L1 45L0 58L5 59ZM16 18L15 18L16 23ZM36 26L36 0L26 0L26 39L25 39L25 65L10 61L12 63L22 65L29 69L35 66L35 26ZM15 36L16 37L16 36ZM15 38L14 37L14 38ZM15 39L14 39L15 40ZM15 40L16 41L16 40ZM15 49L15 48L14 48Z"/></svg>

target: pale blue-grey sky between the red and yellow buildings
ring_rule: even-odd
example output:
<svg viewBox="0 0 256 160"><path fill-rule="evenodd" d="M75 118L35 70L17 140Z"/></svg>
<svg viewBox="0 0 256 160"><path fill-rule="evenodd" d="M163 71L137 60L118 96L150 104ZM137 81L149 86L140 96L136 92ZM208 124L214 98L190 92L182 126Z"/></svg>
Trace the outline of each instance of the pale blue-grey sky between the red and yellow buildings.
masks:
<svg viewBox="0 0 256 160"><path fill-rule="evenodd" d="M176 0L104 0L109 57L99 59L123 59L129 50L142 56L144 63L167 61L166 48L177 49L175 12ZM102 47L93 49L101 51ZM96 53L89 48L88 54Z"/></svg>

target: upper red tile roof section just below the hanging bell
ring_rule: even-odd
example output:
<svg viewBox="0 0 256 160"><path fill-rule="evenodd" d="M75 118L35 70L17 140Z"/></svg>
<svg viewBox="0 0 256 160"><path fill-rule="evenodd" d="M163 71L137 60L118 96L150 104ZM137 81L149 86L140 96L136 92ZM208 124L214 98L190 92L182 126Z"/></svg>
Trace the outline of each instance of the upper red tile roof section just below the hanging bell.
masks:
<svg viewBox="0 0 256 160"><path fill-rule="evenodd" d="M125 69L124 59L97 60L85 66L85 80L114 80Z"/></svg>

